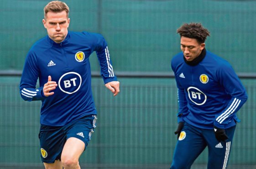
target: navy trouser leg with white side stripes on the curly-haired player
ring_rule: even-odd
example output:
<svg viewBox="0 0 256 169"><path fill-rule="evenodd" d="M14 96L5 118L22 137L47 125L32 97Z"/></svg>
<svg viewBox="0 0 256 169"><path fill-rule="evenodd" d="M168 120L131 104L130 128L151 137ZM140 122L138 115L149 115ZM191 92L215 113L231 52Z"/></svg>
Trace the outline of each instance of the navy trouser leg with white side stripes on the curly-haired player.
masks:
<svg viewBox="0 0 256 169"><path fill-rule="evenodd" d="M235 126L225 131L229 139L221 142L215 138L213 129L204 132L209 149L208 169L226 169L227 167Z"/></svg>

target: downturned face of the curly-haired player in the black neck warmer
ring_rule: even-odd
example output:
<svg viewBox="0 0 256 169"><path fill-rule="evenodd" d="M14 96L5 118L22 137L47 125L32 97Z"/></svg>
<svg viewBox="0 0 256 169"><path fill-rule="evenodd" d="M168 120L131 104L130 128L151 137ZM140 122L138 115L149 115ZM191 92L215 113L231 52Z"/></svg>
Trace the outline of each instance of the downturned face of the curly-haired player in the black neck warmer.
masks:
<svg viewBox="0 0 256 169"><path fill-rule="evenodd" d="M183 51L185 59L188 61L192 61L198 57L204 49L204 46L204 43L199 44L198 41L193 38L182 36L180 39L180 48Z"/></svg>

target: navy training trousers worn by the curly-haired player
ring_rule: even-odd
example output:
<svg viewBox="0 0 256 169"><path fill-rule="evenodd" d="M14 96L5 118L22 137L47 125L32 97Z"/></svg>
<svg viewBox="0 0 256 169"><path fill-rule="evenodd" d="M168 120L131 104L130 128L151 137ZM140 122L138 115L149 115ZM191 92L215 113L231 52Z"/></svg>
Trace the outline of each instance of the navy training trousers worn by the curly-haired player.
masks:
<svg viewBox="0 0 256 169"><path fill-rule="evenodd" d="M199 129L184 123L176 144L171 169L190 169L195 159L208 147L207 169L226 169L235 126L225 129L229 139L219 142L214 129Z"/></svg>

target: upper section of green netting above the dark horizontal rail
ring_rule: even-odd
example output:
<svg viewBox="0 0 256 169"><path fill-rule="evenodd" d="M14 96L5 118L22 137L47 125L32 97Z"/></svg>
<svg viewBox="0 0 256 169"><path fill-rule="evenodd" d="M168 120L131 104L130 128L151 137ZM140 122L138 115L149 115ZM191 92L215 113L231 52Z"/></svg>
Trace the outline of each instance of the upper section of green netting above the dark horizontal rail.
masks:
<svg viewBox="0 0 256 169"><path fill-rule="evenodd" d="M0 70L22 70L31 45L47 35L49 0L0 1ZM170 71L180 51L176 30L201 22L211 32L206 48L237 72L255 72L255 0L65 0L69 30L104 35L117 71ZM95 54L92 60L97 60ZM98 70L97 61L92 70Z"/></svg>

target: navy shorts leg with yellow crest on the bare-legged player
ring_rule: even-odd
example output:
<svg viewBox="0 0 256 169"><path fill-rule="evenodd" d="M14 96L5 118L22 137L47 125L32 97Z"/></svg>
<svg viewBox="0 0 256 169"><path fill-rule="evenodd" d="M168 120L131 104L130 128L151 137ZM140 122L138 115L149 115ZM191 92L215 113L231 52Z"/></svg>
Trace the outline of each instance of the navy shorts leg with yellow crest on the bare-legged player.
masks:
<svg viewBox="0 0 256 169"><path fill-rule="evenodd" d="M62 127L41 124L39 139L42 162L55 163L55 160L60 160L61 152L66 141Z"/></svg>

